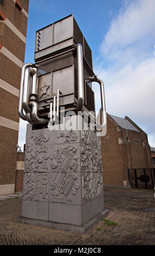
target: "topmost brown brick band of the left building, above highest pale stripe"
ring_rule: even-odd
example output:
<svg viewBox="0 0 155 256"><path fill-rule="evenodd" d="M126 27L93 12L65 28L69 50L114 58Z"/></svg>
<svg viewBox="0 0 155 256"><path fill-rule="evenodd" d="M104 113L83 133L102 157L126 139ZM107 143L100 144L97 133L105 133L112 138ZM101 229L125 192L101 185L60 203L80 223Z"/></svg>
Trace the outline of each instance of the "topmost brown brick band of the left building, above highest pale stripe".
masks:
<svg viewBox="0 0 155 256"><path fill-rule="evenodd" d="M20 1L19 1L20 2ZM25 1L24 1L25 2ZM27 3L28 6L28 3ZM24 35L27 34L27 17L22 11L18 10L13 0L5 0L0 5L0 10L13 25Z"/></svg>

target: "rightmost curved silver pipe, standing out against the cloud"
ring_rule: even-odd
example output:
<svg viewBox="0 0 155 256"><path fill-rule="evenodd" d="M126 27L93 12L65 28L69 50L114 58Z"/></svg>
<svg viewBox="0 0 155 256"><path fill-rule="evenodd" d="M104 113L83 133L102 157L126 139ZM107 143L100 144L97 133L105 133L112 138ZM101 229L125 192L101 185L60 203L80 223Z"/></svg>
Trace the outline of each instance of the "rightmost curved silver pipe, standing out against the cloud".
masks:
<svg viewBox="0 0 155 256"><path fill-rule="evenodd" d="M99 127L96 127L96 130L101 131L104 127L107 127L107 113L106 113L106 101L104 94L104 83L101 79L97 77L89 77L91 82L97 82L100 84L101 92L101 108L102 108L102 124Z"/></svg>

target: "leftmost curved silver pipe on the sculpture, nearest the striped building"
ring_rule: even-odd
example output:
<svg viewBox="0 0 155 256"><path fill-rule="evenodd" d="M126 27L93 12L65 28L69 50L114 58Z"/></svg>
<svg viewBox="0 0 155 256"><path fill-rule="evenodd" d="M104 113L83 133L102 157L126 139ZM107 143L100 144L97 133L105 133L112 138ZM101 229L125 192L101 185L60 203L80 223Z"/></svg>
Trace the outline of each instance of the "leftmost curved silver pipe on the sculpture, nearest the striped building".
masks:
<svg viewBox="0 0 155 256"><path fill-rule="evenodd" d="M32 63L27 63L22 66L21 71L21 84L20 84L20 96L19 96L19 103L18 103L18 115L23 120L27 120L26 115L23 114L23 107L22 107L22 99L23 99L23 82L24 82L24 72L26 68L32 67Z"/></svg>

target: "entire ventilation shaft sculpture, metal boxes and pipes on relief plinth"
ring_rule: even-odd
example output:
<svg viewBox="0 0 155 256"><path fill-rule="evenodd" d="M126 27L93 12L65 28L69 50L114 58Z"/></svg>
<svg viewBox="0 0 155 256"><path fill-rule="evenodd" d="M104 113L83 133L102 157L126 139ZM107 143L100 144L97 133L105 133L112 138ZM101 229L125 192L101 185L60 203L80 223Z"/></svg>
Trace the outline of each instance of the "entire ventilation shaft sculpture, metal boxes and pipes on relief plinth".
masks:
<svg viewBox="0 0 155 256"><path fill-rule="evenodd" d="M96 131L106 133L103 82L92 70L91 50L72 15L36 32L34 59L34 64L22 67L18 107L20 117L29 122L21 218L84 232L104 212L96 136ZM95 113L94 81L101 89L100 125L91 114ZM75 122L78 111L85 113L88 130L53 129L51 124L58 128L69 120L68 111L75 112ZM93 121L95 130L90 129Z"/></svg>

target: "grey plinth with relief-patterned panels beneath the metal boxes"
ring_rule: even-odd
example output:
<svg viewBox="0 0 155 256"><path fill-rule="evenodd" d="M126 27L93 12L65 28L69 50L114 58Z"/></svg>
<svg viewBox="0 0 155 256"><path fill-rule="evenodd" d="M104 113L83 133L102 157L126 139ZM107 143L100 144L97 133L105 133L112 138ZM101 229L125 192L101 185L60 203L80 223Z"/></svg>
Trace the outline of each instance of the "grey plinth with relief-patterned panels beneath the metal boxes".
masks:
<svg viewBox="0 0 155 256"><path fill-rule="evenodd" d="M94 131L32 130L29 124L22 222L84 233L104 211L101 160Z"/></svg>

